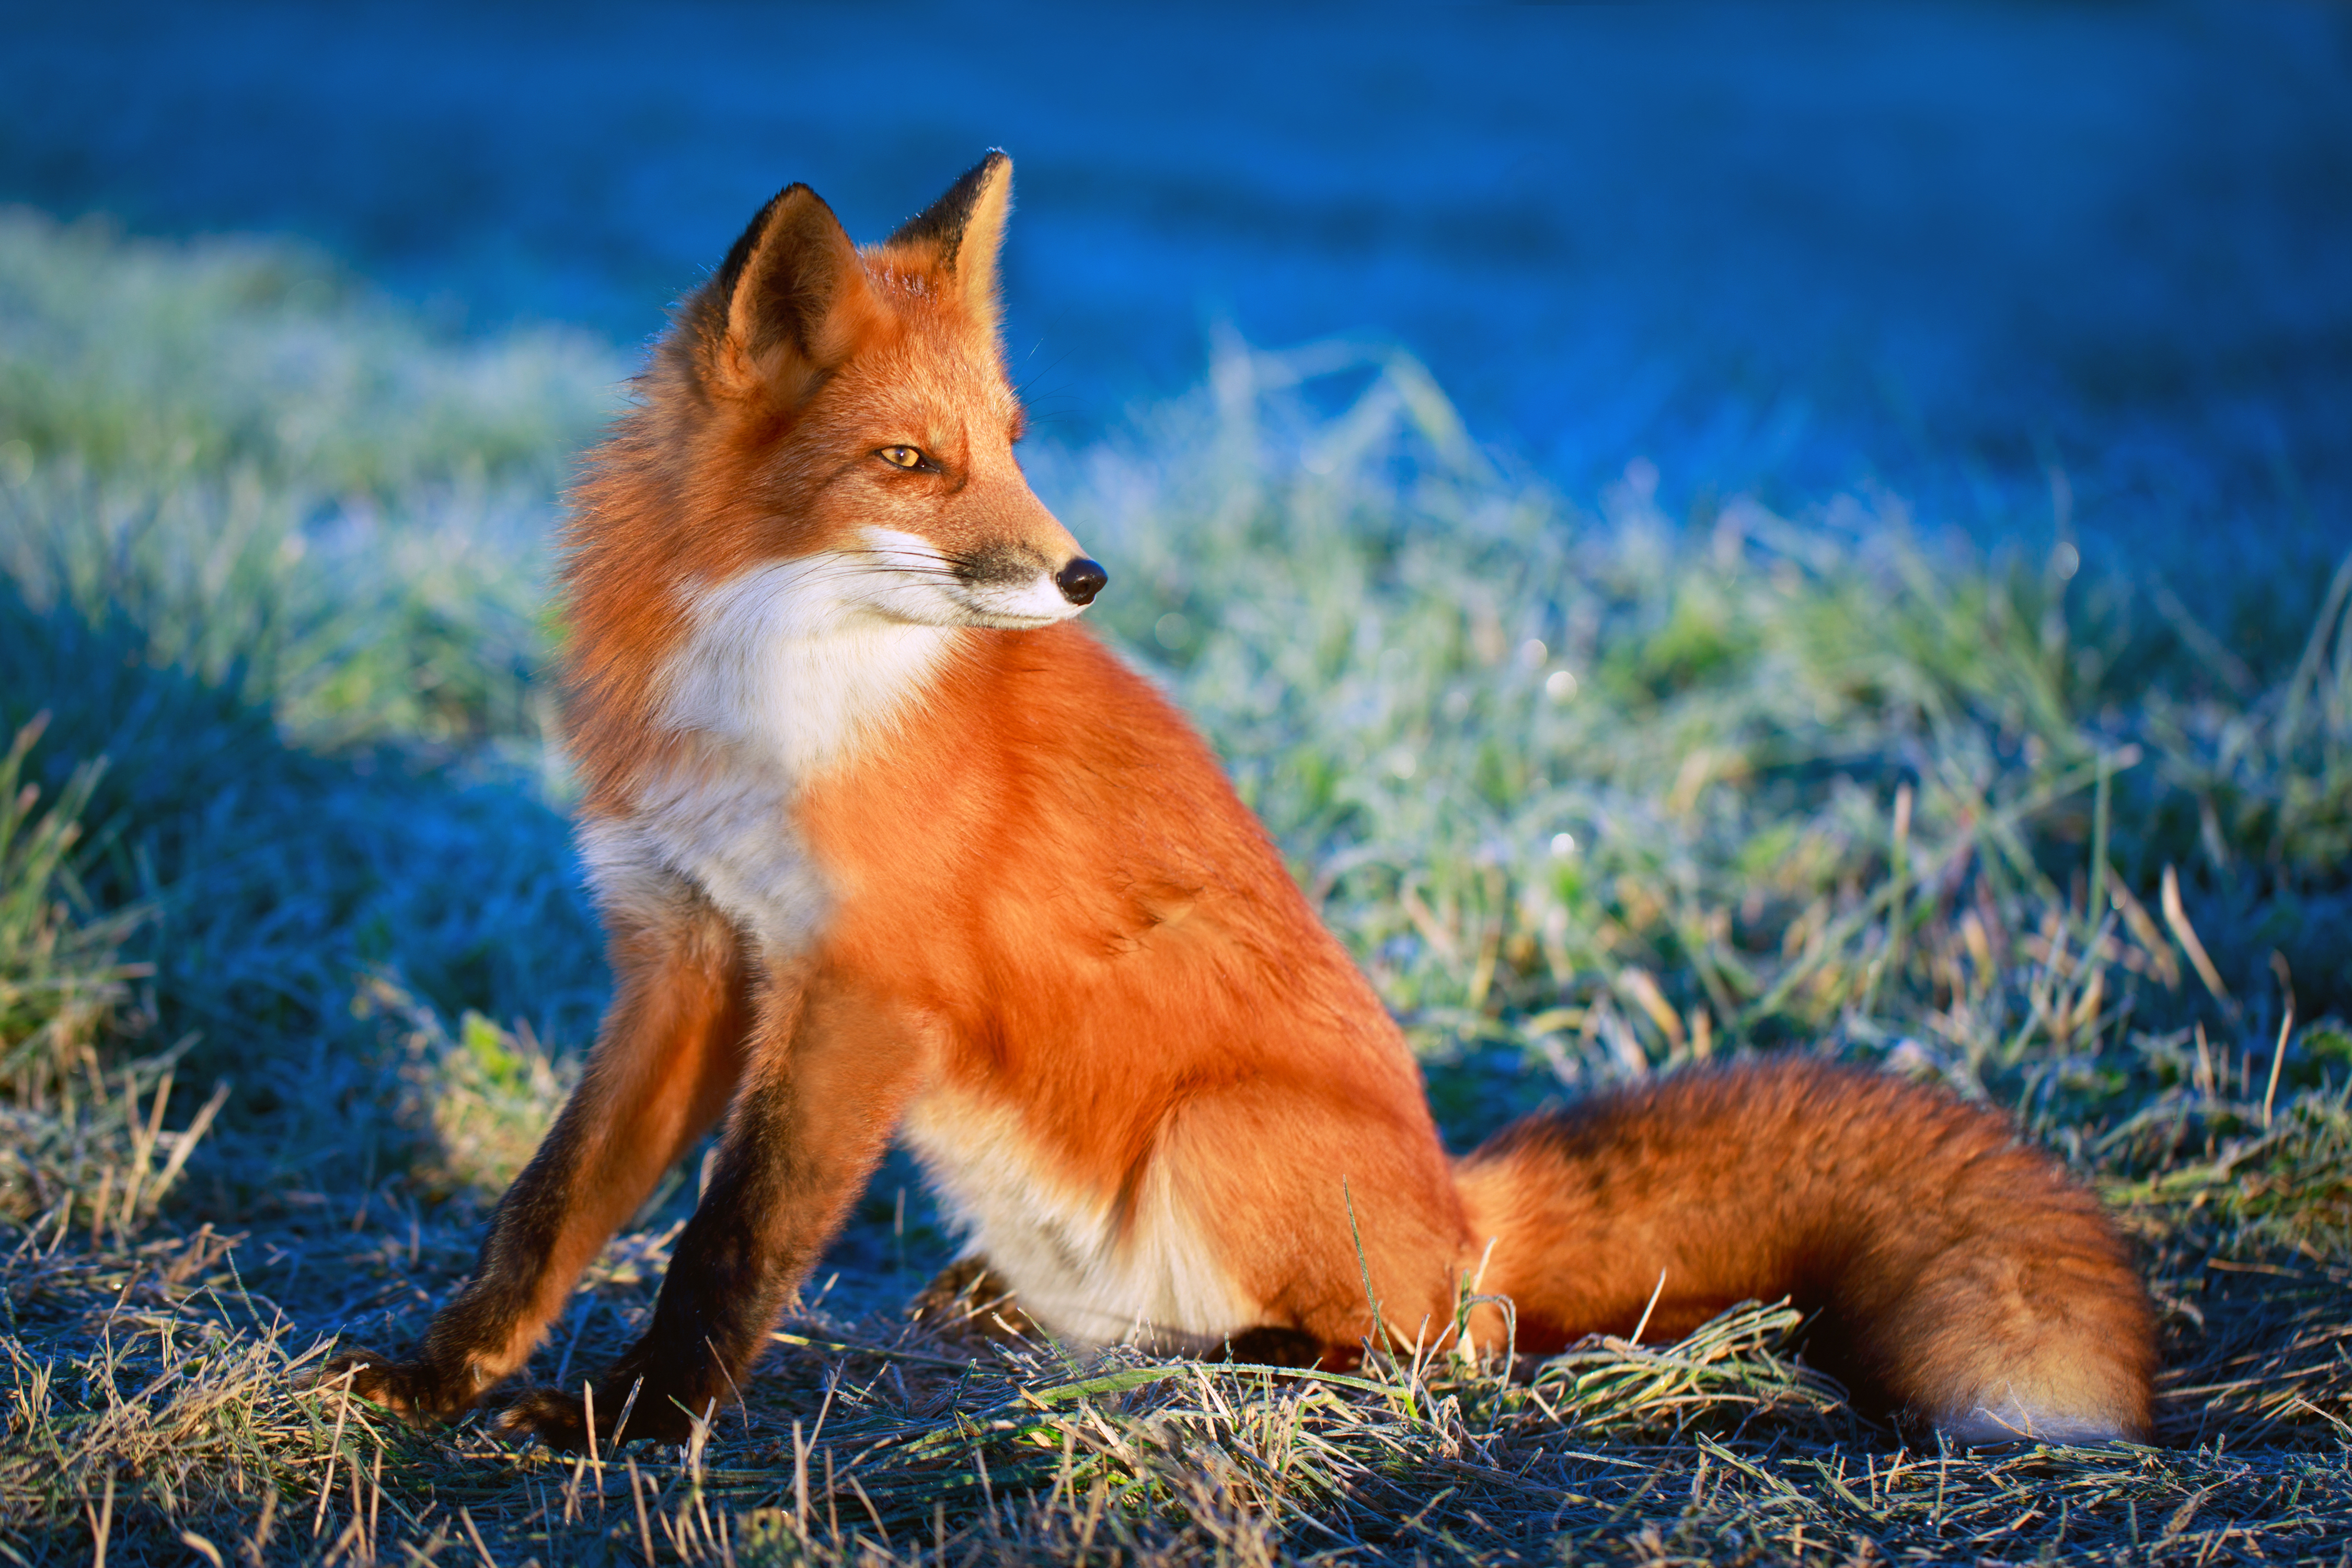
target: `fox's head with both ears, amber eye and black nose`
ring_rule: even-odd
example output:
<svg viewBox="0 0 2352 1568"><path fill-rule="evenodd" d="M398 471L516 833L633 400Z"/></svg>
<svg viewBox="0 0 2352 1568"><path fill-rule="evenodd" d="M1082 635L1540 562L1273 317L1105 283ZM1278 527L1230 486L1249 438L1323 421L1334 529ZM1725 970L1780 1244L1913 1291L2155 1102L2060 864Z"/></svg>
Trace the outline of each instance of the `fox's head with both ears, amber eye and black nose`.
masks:
<svg viewBox="0 0 2352 1568"><path fill-rule="evenodd" d="M656 440L727 569L823 557L837 611L1040 628L1103 569L1030 491L997 341L1011 160L990 153L898 233L856 247L788 186L680 310L656 364ZM706 520L706 522L703 522ZM696 527L696 524L689 524ZM682 562L684 564L684 562ZM699 562L701 564L701 562Z"/></svg>

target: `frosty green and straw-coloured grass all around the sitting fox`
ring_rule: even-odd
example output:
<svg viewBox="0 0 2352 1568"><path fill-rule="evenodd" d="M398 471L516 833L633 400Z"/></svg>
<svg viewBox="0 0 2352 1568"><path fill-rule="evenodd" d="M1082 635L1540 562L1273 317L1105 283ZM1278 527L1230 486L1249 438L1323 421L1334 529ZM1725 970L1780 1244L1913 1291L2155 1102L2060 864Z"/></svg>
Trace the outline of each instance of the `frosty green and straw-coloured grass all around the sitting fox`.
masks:
<svg viewBox="0 0 2352 1568"><path fill-rule="evenodd" d="M1449 1135L1755 1048L1990 1098L2140 1239L2173 1448L1900 1448L1771 1305L1541 1368L1070 1363L903 1321L938 1237L877 1190L741 1413L574 1465L296 1373L421 1328L593 1027L543 529L621 367L440 339L282 247L28 216L0 329L21 1561L2352 1542L2352 574L2239 583L2216 632L2079 574L2049 520L1987 552L1891 496L1668 517L1639 461L1588 510L1475 451L1409 360L1228 346L1033 475ZM633 1335L691 1182L534 1375Z"/></svg>

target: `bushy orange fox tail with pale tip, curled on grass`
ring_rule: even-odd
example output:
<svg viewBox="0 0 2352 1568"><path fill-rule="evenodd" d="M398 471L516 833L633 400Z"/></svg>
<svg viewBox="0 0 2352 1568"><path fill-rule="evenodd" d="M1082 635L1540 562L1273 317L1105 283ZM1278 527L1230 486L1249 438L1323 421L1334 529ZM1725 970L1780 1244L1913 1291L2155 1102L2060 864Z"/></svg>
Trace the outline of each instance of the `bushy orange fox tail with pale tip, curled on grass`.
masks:
<svg viewBox="0 0 2352 1568"><path fill-rule="evenodd" d="M1658 1342L1792 1295L1806 1359L1962 1441L2150 1434L2124 1239L1950 1093L1804 1058L1677 1072L1503 1128L1458 1182L1519 1349L1632 1335L1644 1309Z"/></svg>

